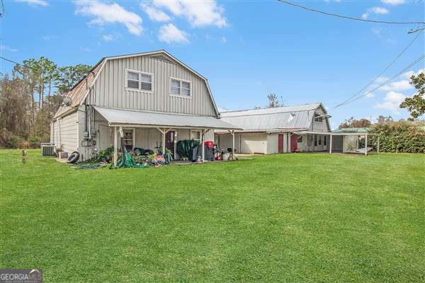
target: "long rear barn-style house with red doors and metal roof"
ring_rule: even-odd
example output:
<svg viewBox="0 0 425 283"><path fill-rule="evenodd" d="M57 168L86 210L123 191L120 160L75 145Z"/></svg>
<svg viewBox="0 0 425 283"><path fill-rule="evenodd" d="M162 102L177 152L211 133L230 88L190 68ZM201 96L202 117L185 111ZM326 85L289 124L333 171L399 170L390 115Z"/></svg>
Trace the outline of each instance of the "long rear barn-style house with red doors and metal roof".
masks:
<svg viewBox="0 0 425 283"><path fill-rule="evenodd" d="M243 154L278 154L327 151L329 115L322 103L221 113L222 120L242 128L234 131L237 151ZM232 146L232 133L215 131L215 143Z"/></svg>

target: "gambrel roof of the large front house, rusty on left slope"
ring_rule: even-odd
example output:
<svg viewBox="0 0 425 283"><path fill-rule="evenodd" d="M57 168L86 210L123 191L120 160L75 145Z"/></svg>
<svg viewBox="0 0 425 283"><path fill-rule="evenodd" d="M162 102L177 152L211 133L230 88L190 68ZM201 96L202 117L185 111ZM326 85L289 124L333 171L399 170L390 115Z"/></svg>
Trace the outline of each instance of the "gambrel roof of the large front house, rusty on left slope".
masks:
<svg viewBox="0 0 425 283"><path fill-rule="evenodd" d="M157 50L157 51L152 51L152 52L142 52L142 53L135 53L135 54L125 54L125 55L120 55L120 56L103 57L95 65L95 67L93 69L91 69L91 71L89 71L89 73L86 74L86 76L84 76L84 78L81 79L81 81L79 81L76 84L76 86L74 86L67 93L67 97L72 99L72 105L61 106L57 110L53 119L55 120L57 117L60 117L64 114L66 114L67 112L74 110L75 108L77 108L78 105L81 105L81 104L84 103L84 100L86 99L87 95L89 94L89 90L90 90L91 86L94 85L96 79L98 78L98 74L100 74L103 67L105 66L105 63L108 60L130 58L130 57L137 57L137 56L150 56L150 57L154 57L155 59L160 59L160 60L164 60L164 61L167 61L167 62L173 62L175 64L180 64L182 67L188 69L188 71L191 71L193 74L196 74L196 76L199 76L200 79L203 79L203 81L205 81L205 85L207 86L208 93L209 93L210 98L212 100L212 104L214 106L215 113L216 113L217 117L220 115L220 113L217 110L217 105L215 104L215 100L212 97L212 92L211 92L210 86L208 85L208 80L204 76L199 74L197 71L191 69L191 67L188 67L188 65L184 64L179 59L177 59L173 55L169 54L169 52L166 52L166 50Z"/></svg>

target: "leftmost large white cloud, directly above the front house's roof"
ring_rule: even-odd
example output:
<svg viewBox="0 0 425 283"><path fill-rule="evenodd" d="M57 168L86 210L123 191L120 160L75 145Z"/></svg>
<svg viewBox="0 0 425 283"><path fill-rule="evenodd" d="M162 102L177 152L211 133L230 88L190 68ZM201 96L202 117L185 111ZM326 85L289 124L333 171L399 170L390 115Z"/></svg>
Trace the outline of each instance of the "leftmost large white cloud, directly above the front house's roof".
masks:
<svg viewBox="0 0 425 283"><path fill-rule="evenodd" d="M116 3L101 3L93 1L77 1L77 14L92 16L90 21L94 25L103 25L105 23L122 23L133 35L140 35L143 31L142 18L137 13L127 11Z"/></svg>

